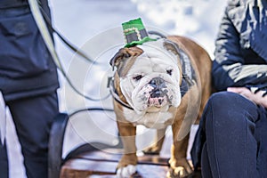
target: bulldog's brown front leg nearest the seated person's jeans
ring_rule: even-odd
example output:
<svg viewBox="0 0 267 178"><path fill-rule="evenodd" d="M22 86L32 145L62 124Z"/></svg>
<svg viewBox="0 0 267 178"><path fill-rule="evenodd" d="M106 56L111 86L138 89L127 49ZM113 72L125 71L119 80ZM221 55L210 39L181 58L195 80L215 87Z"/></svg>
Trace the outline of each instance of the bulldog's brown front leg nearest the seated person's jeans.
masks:
<svg viewBox="0 0 267 178"><path fill-rule="evenodd" d="M177 131L180 130L180 128L177 127L180 127L180 125L173 125L174 144L172 145L171 158L169 160L171 170L167 174L167 177L180 178L192 173L192 168L186 159L190 134L187 134L181 141L177 141Z"/></svg>

